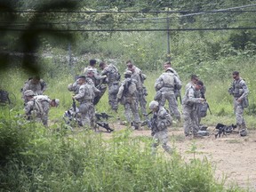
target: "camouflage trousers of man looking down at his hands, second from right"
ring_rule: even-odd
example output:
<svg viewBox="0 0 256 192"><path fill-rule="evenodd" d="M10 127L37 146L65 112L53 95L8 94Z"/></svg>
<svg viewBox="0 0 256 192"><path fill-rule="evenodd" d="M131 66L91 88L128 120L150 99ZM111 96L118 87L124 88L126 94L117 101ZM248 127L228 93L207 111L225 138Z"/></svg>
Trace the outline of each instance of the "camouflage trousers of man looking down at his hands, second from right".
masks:
<svg viewBox="0 0 256 192"><path fill-rule="evenodd" d="M195 106L183 105L184 133L188 136L190 132L194 135L199 131L198 113Z"/></svg>

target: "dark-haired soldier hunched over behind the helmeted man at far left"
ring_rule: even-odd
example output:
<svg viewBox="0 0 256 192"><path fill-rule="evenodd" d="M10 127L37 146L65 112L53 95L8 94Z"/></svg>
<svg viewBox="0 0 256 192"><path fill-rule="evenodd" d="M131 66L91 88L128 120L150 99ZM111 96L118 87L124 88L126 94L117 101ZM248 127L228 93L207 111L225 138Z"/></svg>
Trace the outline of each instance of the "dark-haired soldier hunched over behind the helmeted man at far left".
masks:
<svg viewBox="0 0 256 192"><path fill-rule="evenodd" d="M46 83L43 79L40 79L39 76L28 78L28 81L25 82L23 88L21 89L23 100L25 100L24 92L31 90L35 95L42 95L46 90ZM25 100L25 103L27 100Z"/></svg>

